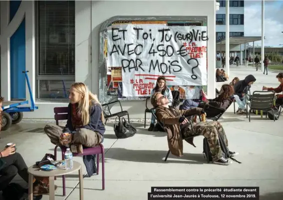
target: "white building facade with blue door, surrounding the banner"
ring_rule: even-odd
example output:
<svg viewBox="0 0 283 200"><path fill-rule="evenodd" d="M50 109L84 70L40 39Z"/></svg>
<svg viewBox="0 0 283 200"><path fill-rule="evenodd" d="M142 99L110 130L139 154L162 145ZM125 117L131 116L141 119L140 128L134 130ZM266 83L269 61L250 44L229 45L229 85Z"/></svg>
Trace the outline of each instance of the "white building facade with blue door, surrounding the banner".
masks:
<svg viewBox="0 0 283 200"><path fill-rule="evenodd" d="M180 6L180 4L184 4ZM216 1L0 1L0 77L5 103L30 100L27 70L38 110L24 118L53 118L67 106L68 89L83 82L100 96L100 28L114 16L206 18L208 96L215 96ZM139 9L136 9L136 8ZM171 9L167 9L170 7ZM188 10L188 8L190 8ZM188 13L190 16L188 16ZM131 118L144 117L145 101L123 101ZM114 106L113 111L116 107ZM118 107L117 107L118 109Z"/></svg>

